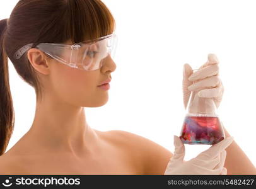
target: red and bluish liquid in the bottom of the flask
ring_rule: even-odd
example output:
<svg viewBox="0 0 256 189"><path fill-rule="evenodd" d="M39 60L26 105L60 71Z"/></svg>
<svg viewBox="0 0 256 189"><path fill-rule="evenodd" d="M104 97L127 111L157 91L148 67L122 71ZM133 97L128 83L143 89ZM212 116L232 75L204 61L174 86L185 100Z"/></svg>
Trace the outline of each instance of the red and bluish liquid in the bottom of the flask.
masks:
<svg viewBox="0 0 256 189"><path fill-rule="evenodd" d="M217 144L224 139L218 117L185 117L180 140L184 144Z"/></svg>

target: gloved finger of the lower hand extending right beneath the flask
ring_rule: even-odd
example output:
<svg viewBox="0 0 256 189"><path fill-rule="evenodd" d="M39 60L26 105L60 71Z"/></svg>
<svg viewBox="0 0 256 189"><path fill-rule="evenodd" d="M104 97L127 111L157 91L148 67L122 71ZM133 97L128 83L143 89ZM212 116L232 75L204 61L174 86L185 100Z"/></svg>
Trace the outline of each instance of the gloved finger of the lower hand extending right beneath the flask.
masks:
<svg viewBox="0 0 256 189"><path fill-rule="evenodd" d="M226 147L230 146L230 144L233 142L234 137L227 137L224 140L221 140L221 142L218 142L217 144L212 145L207 149L206 151L201 152L197 157L198 159L204 159L209 160L213 159L214 157L218 156L221 151L226 149Z"/></svg>

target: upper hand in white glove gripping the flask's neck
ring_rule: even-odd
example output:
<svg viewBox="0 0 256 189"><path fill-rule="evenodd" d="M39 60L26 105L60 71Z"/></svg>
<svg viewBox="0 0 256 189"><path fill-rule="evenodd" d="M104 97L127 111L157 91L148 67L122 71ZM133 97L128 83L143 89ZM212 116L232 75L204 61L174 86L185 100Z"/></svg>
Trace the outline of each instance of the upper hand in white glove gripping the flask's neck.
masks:
<svg viewBox="0 0 256 189"><path fill-rule="evenodd" d="M192 91L195 92L194 98L212 98L216 108L221 103L224 87L218 77L219 60L214 54L208 54L207 62L193 73L189 64L183 66L183 104L187 108L187 103ZM192 101L199 101L192 99Z"/></svg>

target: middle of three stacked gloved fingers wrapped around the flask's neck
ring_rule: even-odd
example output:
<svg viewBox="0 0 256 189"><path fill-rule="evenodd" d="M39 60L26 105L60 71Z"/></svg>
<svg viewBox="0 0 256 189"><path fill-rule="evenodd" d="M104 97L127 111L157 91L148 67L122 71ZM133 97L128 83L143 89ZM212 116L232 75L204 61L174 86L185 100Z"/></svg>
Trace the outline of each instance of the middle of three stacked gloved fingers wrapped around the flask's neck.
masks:
<svg viewBox="0 0 256 189"><path fill-rule="evenodd" d="M201 89L205 88L215 88L216 86L219 86L220 79L218 76L212 76L208 77L206 79L203 79L201 81L197 81L196 83L189 86L189 91L200 91Z"/></svg>

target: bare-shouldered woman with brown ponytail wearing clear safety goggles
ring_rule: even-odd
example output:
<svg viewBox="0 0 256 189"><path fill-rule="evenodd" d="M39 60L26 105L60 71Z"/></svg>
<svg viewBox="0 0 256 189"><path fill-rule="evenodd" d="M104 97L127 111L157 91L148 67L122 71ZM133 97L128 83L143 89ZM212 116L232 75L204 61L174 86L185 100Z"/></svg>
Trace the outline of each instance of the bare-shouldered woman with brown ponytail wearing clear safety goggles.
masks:
<svg viewBox="0 0 256 189"><path fill-rule="evenodd" d="M114 29L112 14L100 0L21 0L10 18L1 20L1 175L187 173L190 162L176 166L176 172L168 164L171 157L184 154L180 141L175 139L172 154L139 135L102 132L86 122L83 107L103 106L108 100L108 85L101 85L110 82L116 68L108 53L114 51ZM14 127L8 57L21 78L35 88L37 105L30 130L5 152ZM228 175L255 173L235 142L214 156L216 164L226 157L219 174L224 167Z"/></svg>

